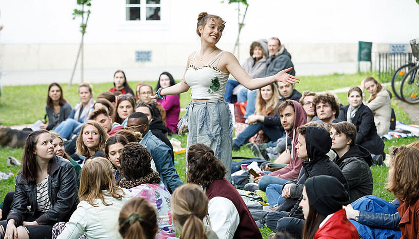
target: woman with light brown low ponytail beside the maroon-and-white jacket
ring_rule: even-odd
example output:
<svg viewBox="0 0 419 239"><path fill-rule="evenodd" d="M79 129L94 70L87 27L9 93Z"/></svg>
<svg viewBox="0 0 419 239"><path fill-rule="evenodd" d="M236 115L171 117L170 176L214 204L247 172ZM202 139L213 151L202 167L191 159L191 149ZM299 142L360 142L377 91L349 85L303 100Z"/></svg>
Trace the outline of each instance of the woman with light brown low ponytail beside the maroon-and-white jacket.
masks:
<svg viewBox="0 0 419 239"><path fill-rule="evenodd" d="M182 229L180 238L218 239L210 227L204 226L208 198L198 185L188 183L174 190L172 213L175 225Z"/></svg>

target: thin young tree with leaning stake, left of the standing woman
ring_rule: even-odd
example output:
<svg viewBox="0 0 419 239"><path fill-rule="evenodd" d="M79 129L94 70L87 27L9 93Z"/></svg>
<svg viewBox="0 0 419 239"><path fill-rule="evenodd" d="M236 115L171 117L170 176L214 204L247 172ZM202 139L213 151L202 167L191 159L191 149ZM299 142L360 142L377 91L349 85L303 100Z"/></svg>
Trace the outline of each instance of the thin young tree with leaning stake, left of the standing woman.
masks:
<svg viewBox="0 0 419 239"><path fill-rule="evenodd" d="M78 47L78 53L76 57L76 61L74 63L73 73L71 74L70 83L68 84L68 87L71 86L71 83L73 82L74 78L74 72L76 70L78 58L81 58L80 68L81 68L81 80L84 81L84 36L86 33L86 27L87 27L87 21L89 20L90 10L87 8L91 7L91 0L76 0L77 5L81 6L81 9L74 9L73 10L73 19L76 17L81 16L82 17L82 23L80 24L80 32L82 33L82 40L80 42L80 46ZM87 11L85 10L87 9Z"/></svg>

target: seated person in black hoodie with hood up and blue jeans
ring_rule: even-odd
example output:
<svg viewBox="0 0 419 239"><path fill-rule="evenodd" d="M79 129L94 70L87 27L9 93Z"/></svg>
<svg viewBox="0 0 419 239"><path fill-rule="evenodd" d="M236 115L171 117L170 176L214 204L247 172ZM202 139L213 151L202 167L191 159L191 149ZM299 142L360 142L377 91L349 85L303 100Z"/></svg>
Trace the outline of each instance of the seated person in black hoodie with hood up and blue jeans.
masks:
<svg viewBox="0 0 419 239"><path fill-rule="evenodd" d="M324 128L303 125L297 128L297 133L297 154L298 157L305 160L303 168L296 182L289 182L284 185L282 194L287 199L275 211L266 215L265 223L272 231L287 231L294 237L300 238L305 221L299 204L306 179L318 175L328 175L339 180L348 192L349 187L341 169L330 161L326 155L332 146L329 132ZM291 190L300 193L301 196L298 200L295 201L295 199L288 197ZM288 204L289 201L295 202L291 211L283 211L284 205Z"/></svg>

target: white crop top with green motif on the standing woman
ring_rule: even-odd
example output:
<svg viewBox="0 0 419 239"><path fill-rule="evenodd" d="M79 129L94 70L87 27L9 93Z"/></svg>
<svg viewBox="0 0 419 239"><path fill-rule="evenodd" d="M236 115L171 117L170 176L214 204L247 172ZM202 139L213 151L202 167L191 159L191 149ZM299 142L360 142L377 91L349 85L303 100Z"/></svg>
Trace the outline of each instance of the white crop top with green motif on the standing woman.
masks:
<svg viewBox="0 0 419 239"><path fill-rule="evenodd" d="M224 97L228 76L230 74L224 73L217 68L223 51L201 68L197 68L192 64L196 53L197 52L193 55L191 63L185 73L185 81L191 88L192 99L206 100ZM215 66L212 66L216 60ZM217 84L216 79L218 79L218 83L220 84L218 88L215 87Z"/></svg>

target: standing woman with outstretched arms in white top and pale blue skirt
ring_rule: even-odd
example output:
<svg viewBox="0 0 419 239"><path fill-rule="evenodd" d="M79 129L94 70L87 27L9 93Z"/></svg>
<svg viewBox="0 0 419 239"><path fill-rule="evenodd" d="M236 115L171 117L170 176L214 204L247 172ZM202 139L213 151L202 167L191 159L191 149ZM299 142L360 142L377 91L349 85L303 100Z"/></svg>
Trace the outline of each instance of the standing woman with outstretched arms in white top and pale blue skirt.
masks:
<svg viewBox="0 0 419 239"><path fill-rule="evenodd" d="M186 120L188 122L186 148L197 142L210 146L226 166L226 178L231 181L233 125L228 104L223 99L229 74L249 90L275 81L294 84L299 79L287 74L292 68L274 76L252 79L233 54L215 46L221 38L225 21L207 12L199 13L197 20L196 33L201 37L201 49L189 55L182 82L158 89L152 98L180 94L191 88L192 100L178 124L180 128Z"/></svg>

